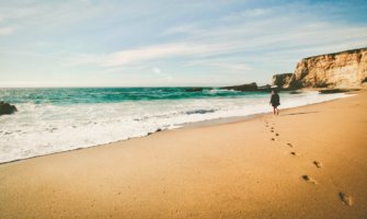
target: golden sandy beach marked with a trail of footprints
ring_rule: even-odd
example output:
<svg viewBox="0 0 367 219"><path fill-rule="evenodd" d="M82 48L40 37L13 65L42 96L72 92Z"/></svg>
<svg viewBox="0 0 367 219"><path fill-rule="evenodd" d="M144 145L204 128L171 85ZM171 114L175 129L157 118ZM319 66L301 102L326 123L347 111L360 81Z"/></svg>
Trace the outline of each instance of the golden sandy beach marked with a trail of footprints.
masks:
<svg viewBox="0 0 367 219"><path fill-rule="evenodd" d="M0 165L0 218L367 218L367 92Z"/></svg>

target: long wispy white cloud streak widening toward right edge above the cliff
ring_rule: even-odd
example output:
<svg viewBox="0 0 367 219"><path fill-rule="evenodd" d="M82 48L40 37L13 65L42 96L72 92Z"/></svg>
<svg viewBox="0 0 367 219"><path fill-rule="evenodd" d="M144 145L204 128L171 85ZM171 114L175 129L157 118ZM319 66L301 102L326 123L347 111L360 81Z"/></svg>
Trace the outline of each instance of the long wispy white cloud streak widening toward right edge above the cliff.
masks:
<svg viewBox="0 0 367 219"><path fill-rule="evenodd" d="M252 31L253 28L250 28L252 26L257 26L257 30ZM265 56L266 53L282 51L286 54L290 50L303 49L312 54L312 50L319 51L318 48L332 47L335 44L344 45L346 48L351 44L363 45L363 41L356 43L357 38L367 38L367 27L343 26L328 22L293 24L291 21L285 21L280 18L278 20L261 21L255 24L219 27L207 31L204 36L194 35L176 43L157 44L110 54L84 54L78 55L73 59L74 64L78 65L92 64L104 68L142 65L149 61L176 60L177 58L195 60L219 55L242 56L245 59L253 59L252 56L256 55L261 59L259 53L262 54L261 56ZM330 50L325 51L329 53ZM249 66L233 62L213 62L209 66L215 65L232 70L251 70Z"/></svg>

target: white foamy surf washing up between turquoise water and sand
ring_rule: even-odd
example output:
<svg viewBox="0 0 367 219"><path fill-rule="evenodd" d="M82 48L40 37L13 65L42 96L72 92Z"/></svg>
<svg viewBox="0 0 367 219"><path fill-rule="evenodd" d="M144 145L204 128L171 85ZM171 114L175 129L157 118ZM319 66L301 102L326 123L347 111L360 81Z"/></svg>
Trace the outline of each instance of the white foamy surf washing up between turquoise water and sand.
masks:
<svg viewBox="0 0 367 219"><path fill-rule="evenodd" d="M317 92L282 93L280 108L345 96ZM19 104L16 114L0 117L0 163L141 137L185 123L268 113L272 111L268 97L249 95L68 106Z"/></svg>

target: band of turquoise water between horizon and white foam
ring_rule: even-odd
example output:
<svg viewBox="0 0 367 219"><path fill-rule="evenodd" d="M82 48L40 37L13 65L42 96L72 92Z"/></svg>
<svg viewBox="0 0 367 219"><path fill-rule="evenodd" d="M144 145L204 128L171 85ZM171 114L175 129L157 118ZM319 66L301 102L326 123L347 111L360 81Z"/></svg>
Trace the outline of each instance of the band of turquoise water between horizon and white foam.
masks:
<svg viewBox="0 0 367 219"><path fill-rule="evenodd" d="M124 101L215 99L267 95L264 92L236 92L205 88L67 88L67 89L0 89L0 99L10 103L94 104Z"/></svg>

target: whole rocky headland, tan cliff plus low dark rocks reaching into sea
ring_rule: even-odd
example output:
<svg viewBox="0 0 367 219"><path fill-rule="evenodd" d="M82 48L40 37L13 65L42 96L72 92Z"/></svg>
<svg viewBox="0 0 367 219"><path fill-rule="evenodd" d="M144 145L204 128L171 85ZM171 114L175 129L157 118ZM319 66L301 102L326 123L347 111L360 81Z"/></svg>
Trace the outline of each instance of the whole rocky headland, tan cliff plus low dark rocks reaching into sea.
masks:
<svg viewBox="0 0 367 219"><path fill-rule="evenodd" d="M367 48L324 54L301 59L294 72L273 76L272 83L223 87L236 91L323 89L344 91L367 88Z"/></svg>

